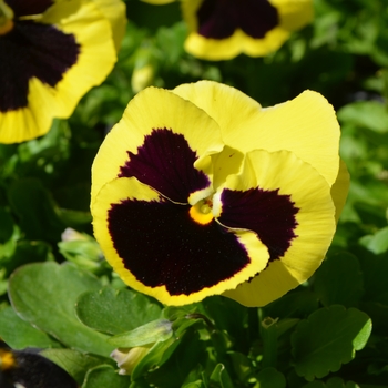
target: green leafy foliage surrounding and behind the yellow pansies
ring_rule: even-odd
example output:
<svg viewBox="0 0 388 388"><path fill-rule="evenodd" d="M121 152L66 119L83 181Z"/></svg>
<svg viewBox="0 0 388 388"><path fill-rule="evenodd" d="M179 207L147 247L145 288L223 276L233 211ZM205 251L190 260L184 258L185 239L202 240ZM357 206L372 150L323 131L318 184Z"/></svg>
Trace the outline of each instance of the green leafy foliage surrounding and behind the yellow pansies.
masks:
<svg viewBox="0 0 388 388"><path fill-rule="evenodd" d="M40 348L82 388L387 387L386 2L315 0L312 25L277 52L218 62L185 53L177 1L126 6L108 80L45 136L0 144L1 339ZM338 112L351 186L333 246L306 284L259 309L224 297L161 306L127 289L92 237L90 169L106 132L141 88L201 79L263 106L312 89ZM111 351L137 346L146 354L119 375Z"/></svg>

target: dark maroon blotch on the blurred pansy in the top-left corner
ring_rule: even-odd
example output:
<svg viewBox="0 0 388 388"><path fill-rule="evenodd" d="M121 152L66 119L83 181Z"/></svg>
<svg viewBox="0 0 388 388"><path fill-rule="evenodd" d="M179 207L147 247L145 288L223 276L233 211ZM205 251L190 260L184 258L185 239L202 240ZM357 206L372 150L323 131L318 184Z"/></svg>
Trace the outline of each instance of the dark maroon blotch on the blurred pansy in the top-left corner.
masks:
<svg viewBox="0 0 388 388"><path fill-rule="evenodd" d="M74 65L80 45L72 34L33 21L16 21L0 35L0 112L28 105L29 80L55 86Z"/></svg>

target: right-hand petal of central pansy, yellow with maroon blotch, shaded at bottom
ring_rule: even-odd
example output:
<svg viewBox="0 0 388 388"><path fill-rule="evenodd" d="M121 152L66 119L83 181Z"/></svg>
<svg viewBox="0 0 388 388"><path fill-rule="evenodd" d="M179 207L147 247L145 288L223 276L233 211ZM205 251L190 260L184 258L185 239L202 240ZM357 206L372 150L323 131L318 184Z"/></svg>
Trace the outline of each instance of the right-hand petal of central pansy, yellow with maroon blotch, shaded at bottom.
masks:
<svg viewBox="0 0 388 388"><path fill-rule="evenodd" d="M246 306L263 306L312 276L335 233L330 186L287 151L249 152L215 202L223 225L256 232L270 253L266 269L224 294Z"/></svg>

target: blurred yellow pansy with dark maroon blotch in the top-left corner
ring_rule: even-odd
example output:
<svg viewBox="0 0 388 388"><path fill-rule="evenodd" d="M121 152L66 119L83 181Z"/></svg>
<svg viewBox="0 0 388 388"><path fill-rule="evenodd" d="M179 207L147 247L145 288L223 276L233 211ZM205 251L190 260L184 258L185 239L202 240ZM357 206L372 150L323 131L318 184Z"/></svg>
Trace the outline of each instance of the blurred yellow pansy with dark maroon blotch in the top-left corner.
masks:
<svg viewBox="0 0 388 388"><path fill-rule="evenodd" d="M70 116L106 78L116 61L109 20L120 24L118 47L125 7L102 0L2 4L11 28L0 30L0 142L14 143L47 133L53 118Z"/></svg>

